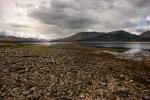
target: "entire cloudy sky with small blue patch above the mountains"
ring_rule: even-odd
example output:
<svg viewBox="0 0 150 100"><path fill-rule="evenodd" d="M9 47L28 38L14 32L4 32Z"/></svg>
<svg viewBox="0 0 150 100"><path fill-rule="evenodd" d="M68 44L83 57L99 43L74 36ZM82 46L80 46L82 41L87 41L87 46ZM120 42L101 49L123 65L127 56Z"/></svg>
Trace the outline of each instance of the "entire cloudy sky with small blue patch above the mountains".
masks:
<svg viewBox="0 0 150 100"><path fill-rule="evenodd" d="M0 0L0 35L56 39L82 31L150 30L150 0Z"/></svg>

